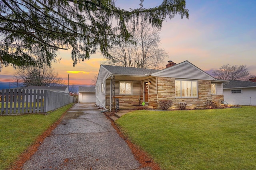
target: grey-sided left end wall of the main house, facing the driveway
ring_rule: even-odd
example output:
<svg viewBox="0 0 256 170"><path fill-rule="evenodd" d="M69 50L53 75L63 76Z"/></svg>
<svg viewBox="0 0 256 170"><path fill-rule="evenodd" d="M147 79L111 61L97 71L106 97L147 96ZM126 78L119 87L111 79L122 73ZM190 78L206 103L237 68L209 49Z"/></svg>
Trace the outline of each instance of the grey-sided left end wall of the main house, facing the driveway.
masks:
<svg viewBox="0 0 256 170"><path fill-rule="evenodd" d="M96 104L98 106L105 107L106 106L106 79L110 77L111 74L106 70L103 66L100 66L100 71L98 74L97 82L96 82ZM103 90L101 89L101 84L103 83Z"/></svg>

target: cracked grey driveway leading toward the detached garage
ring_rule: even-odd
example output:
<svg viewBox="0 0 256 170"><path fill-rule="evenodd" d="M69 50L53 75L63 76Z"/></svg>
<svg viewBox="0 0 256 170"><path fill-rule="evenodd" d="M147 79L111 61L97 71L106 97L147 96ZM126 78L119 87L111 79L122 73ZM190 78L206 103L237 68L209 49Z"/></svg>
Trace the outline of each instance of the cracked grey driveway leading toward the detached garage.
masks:
<svg viewBox="0 0 256 170"><path fill-rule="evenodd" d="M139 166L104 113L94 104L78 103L22 169L135 170Z"/></svg>

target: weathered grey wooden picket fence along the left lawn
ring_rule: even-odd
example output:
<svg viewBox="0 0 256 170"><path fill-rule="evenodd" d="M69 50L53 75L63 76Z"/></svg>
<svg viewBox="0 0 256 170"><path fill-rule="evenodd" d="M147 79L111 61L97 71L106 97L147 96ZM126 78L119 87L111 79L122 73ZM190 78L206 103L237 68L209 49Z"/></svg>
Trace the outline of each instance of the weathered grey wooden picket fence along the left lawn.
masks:
<svg viewBox="0 0 256 170"><path fill-rule="evenodd" d="M73 103L69 94L49 90L0 90L0 114L46 113Z"/></svg>

